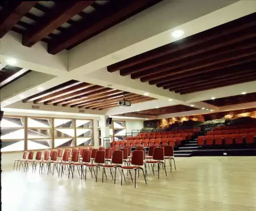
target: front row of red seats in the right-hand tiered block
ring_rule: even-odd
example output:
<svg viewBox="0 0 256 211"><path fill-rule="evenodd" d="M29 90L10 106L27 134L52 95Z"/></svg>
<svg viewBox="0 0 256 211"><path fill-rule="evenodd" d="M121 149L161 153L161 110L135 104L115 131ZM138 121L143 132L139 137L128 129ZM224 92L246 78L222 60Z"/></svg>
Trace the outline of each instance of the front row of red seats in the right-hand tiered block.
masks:
<svg viewBox="0 0 256 211"><path fill-rule="evenodd" d="M198 146L204 145L233 145L233 144L252 144L255 143L255 134L231 134L231 135L214 135L199 136L197 138Z"/></svg>

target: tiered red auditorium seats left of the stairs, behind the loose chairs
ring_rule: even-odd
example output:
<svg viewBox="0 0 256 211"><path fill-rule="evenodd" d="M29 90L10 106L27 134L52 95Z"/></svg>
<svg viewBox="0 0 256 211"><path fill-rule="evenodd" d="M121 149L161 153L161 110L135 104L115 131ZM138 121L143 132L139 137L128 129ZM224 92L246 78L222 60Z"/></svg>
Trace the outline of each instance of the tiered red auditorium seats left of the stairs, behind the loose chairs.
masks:
<svg viewBox="0 0 256 211"><path fill-rule="evenodd" d="M199 130L200 129L189 129L167 132L138 133L137 136L127 137L125 141L112 141L111 147L137 147L140 145L143 147L150 147L152 145L160 146L161 144L178 147L186 142L186 140L190 140L192 136L197 135Z"/></svg>

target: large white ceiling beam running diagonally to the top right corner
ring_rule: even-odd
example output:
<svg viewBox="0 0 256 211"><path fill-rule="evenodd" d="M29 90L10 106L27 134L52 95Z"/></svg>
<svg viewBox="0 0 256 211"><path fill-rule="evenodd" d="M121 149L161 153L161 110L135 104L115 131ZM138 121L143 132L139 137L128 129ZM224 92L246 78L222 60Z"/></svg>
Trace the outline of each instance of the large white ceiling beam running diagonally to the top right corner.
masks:
<svg viewBox="0 0 256 211"><path fill-rule="evenodd" d="M174 30L191 36L251 14L255 7L255 1L162 1L69 50L69 71L93 72L176 41L170 35Z"/></svg>

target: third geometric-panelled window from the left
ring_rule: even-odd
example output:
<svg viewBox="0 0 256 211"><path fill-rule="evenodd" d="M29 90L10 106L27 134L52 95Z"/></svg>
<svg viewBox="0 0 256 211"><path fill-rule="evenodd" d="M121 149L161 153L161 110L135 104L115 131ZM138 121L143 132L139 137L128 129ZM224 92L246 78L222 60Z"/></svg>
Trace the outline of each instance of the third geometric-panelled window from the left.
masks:
<svg viewBox="0 0 256 211"><path fill-rule="evenodd" d="M74 119L54 118L54 147L74 147Z"/></svg>

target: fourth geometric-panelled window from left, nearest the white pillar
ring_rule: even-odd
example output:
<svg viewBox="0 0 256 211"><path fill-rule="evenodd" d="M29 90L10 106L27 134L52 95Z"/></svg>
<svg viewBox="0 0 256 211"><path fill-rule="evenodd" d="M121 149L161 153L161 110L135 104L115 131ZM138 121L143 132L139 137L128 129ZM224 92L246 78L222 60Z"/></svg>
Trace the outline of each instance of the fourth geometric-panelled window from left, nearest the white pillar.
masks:
<svg viewBox="0 0 256 211"><path fill-rule="evenodd" d="M93 120L76 119L77 146L93 146Z"/></svg>

